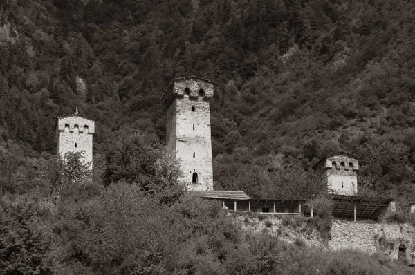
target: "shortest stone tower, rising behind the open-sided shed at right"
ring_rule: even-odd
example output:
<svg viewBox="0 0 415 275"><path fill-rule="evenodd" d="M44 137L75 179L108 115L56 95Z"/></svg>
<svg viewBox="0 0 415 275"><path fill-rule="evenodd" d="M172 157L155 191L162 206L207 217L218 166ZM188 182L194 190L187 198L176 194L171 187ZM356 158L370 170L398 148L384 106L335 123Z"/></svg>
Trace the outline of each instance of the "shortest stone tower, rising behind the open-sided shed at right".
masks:
<svg viewBox="0 0 415 275"><path fill-rule="evenodd" d="M329 193L358 194L359 162L355 156L344 152L326 155L313 169L324 174Z"/></svg>

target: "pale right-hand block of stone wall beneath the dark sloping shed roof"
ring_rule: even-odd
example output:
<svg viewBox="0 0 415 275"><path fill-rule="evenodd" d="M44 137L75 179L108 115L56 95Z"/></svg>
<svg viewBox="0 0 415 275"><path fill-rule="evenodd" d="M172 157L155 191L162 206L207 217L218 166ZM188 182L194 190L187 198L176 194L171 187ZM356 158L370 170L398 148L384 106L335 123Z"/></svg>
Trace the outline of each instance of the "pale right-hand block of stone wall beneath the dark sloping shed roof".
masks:
<svg viewBox="0 0 415 275"><path fill-rule="evenodd" d="M415 228L411 225L333 220L329 249L358 249L398 259L400 245L406 247L408 263L415 263Z"/></svg>

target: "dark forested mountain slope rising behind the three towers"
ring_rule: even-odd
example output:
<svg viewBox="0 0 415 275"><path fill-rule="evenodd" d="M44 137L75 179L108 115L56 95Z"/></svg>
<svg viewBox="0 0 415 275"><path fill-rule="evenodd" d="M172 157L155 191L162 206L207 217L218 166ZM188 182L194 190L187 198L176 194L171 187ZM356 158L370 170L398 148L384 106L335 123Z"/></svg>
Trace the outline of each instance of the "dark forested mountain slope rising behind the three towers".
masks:
<svg viewBox="0 0 415 275"><path fill-rule="evenodd" d="M98 156L122 126L164 140L160 93L199 75L217 83L216 188L306 190L312 165L341 150L360 160L362 194L414 200L414 12L393 0L3 0L3 169L30 178L76 105L98 122Z"/></svg>

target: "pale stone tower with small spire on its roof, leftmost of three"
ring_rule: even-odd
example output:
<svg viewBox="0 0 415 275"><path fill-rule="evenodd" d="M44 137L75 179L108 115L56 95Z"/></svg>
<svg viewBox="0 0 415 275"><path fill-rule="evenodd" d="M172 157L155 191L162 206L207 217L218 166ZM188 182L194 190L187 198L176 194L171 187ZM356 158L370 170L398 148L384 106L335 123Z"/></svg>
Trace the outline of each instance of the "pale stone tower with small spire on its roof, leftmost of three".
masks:
<svg viewBox="0 0 415 275"><path fill-rule="evenodd" d="M95 133L95 122L88 117L67 115L57 118L57 154L62 160L65 153L81 152L85 163L92 169L92 136Z"/></svg>

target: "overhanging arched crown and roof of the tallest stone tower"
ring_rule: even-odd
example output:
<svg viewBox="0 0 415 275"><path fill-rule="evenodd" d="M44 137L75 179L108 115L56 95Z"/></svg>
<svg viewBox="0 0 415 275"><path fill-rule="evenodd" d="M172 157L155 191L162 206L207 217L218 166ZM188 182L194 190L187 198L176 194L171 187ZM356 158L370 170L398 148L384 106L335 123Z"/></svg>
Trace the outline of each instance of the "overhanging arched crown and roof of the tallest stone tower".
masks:
<svg viewBox="0 0 415 275"><path fill-rule="evenodd" d="M192 75L173 79L160 98L164 100L166 106L170 106L175 97L210 100L213 93L214 82Z"/></svg>

